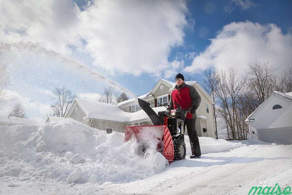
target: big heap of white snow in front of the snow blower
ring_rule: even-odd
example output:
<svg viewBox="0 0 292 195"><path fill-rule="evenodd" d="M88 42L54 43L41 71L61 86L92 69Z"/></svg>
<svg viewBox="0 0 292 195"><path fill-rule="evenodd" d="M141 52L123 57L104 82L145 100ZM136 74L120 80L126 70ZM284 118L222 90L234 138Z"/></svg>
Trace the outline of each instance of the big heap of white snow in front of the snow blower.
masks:
<svg viewBox="0 0 292 195"><path fill-rule="evenodd" d="M134 141L72 119L0 127L0 181L56 179L64 183L130 182L166 168L160 153L131 158Z"/></svg>

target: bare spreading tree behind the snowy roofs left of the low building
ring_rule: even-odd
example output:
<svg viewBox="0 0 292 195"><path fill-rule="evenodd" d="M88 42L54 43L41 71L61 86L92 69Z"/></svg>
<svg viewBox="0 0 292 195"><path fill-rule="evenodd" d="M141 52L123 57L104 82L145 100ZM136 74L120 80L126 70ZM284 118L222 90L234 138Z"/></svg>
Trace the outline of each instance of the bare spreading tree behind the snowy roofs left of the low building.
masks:
<svg viewBox="0 0 292 195"><path fill-rule="evenodd" d="M53 100L55 100L55 103L51 105L53 111L52 115L64 117L76 98L76 95L72 94L72 91L70 89L66 89L65 87L57 87L53 94Z"/></svg>

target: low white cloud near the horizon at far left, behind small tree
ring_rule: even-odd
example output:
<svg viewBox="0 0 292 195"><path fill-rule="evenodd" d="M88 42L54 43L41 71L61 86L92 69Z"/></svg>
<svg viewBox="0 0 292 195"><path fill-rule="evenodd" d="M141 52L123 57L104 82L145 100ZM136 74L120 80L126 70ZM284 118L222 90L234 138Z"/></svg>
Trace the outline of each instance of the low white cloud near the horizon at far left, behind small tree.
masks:
<svg viewBox="0 0 292 195"><path fill-rule="evenodd" d="M41 102L33 102L27 97L22 97L15 91L7 90L6 94L8 96L7 101L2 106L3 109L1 109L0 115L7 116L16 103L20 103L23 106L28 118L46 118L46 116L51 112L50 105Z"/></svg>

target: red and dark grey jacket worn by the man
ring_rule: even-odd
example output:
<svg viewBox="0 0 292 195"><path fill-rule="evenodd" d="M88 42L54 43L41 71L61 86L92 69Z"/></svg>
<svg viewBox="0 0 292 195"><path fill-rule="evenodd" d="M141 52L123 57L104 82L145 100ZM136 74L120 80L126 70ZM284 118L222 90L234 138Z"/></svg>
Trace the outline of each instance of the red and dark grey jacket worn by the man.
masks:
<svg viewBox="0 0 292 195"><path fill-rule="evenodd" d="M197 118L196 110L201 103L201 96L195 89L195 87L183 83L181 88L177 85L173 88L170 94L170 100L168 106L170 108L182 108L183 110L191 109L190 113L187 113L186 118Z"/></svg>

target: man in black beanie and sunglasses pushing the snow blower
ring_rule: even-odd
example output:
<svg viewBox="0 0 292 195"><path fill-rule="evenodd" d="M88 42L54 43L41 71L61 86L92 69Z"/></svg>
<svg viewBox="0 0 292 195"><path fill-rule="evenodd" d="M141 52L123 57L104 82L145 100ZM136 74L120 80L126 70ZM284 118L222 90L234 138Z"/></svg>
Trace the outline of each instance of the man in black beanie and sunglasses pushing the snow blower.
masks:
<svg viewBox="0 0 292 195"><path fill-rule="evenodd" d="M176 85L171 92L168 109L180 107L183 110L190 111L187 113L184 124L184 127L187 126L187 134L190 138L192 150L190 158L201 158L201 148L196 131L196 110L201 103L201 96L195 87L185 84L184 81L185 78L182 74L178 73L175 76Z"/></svg>

